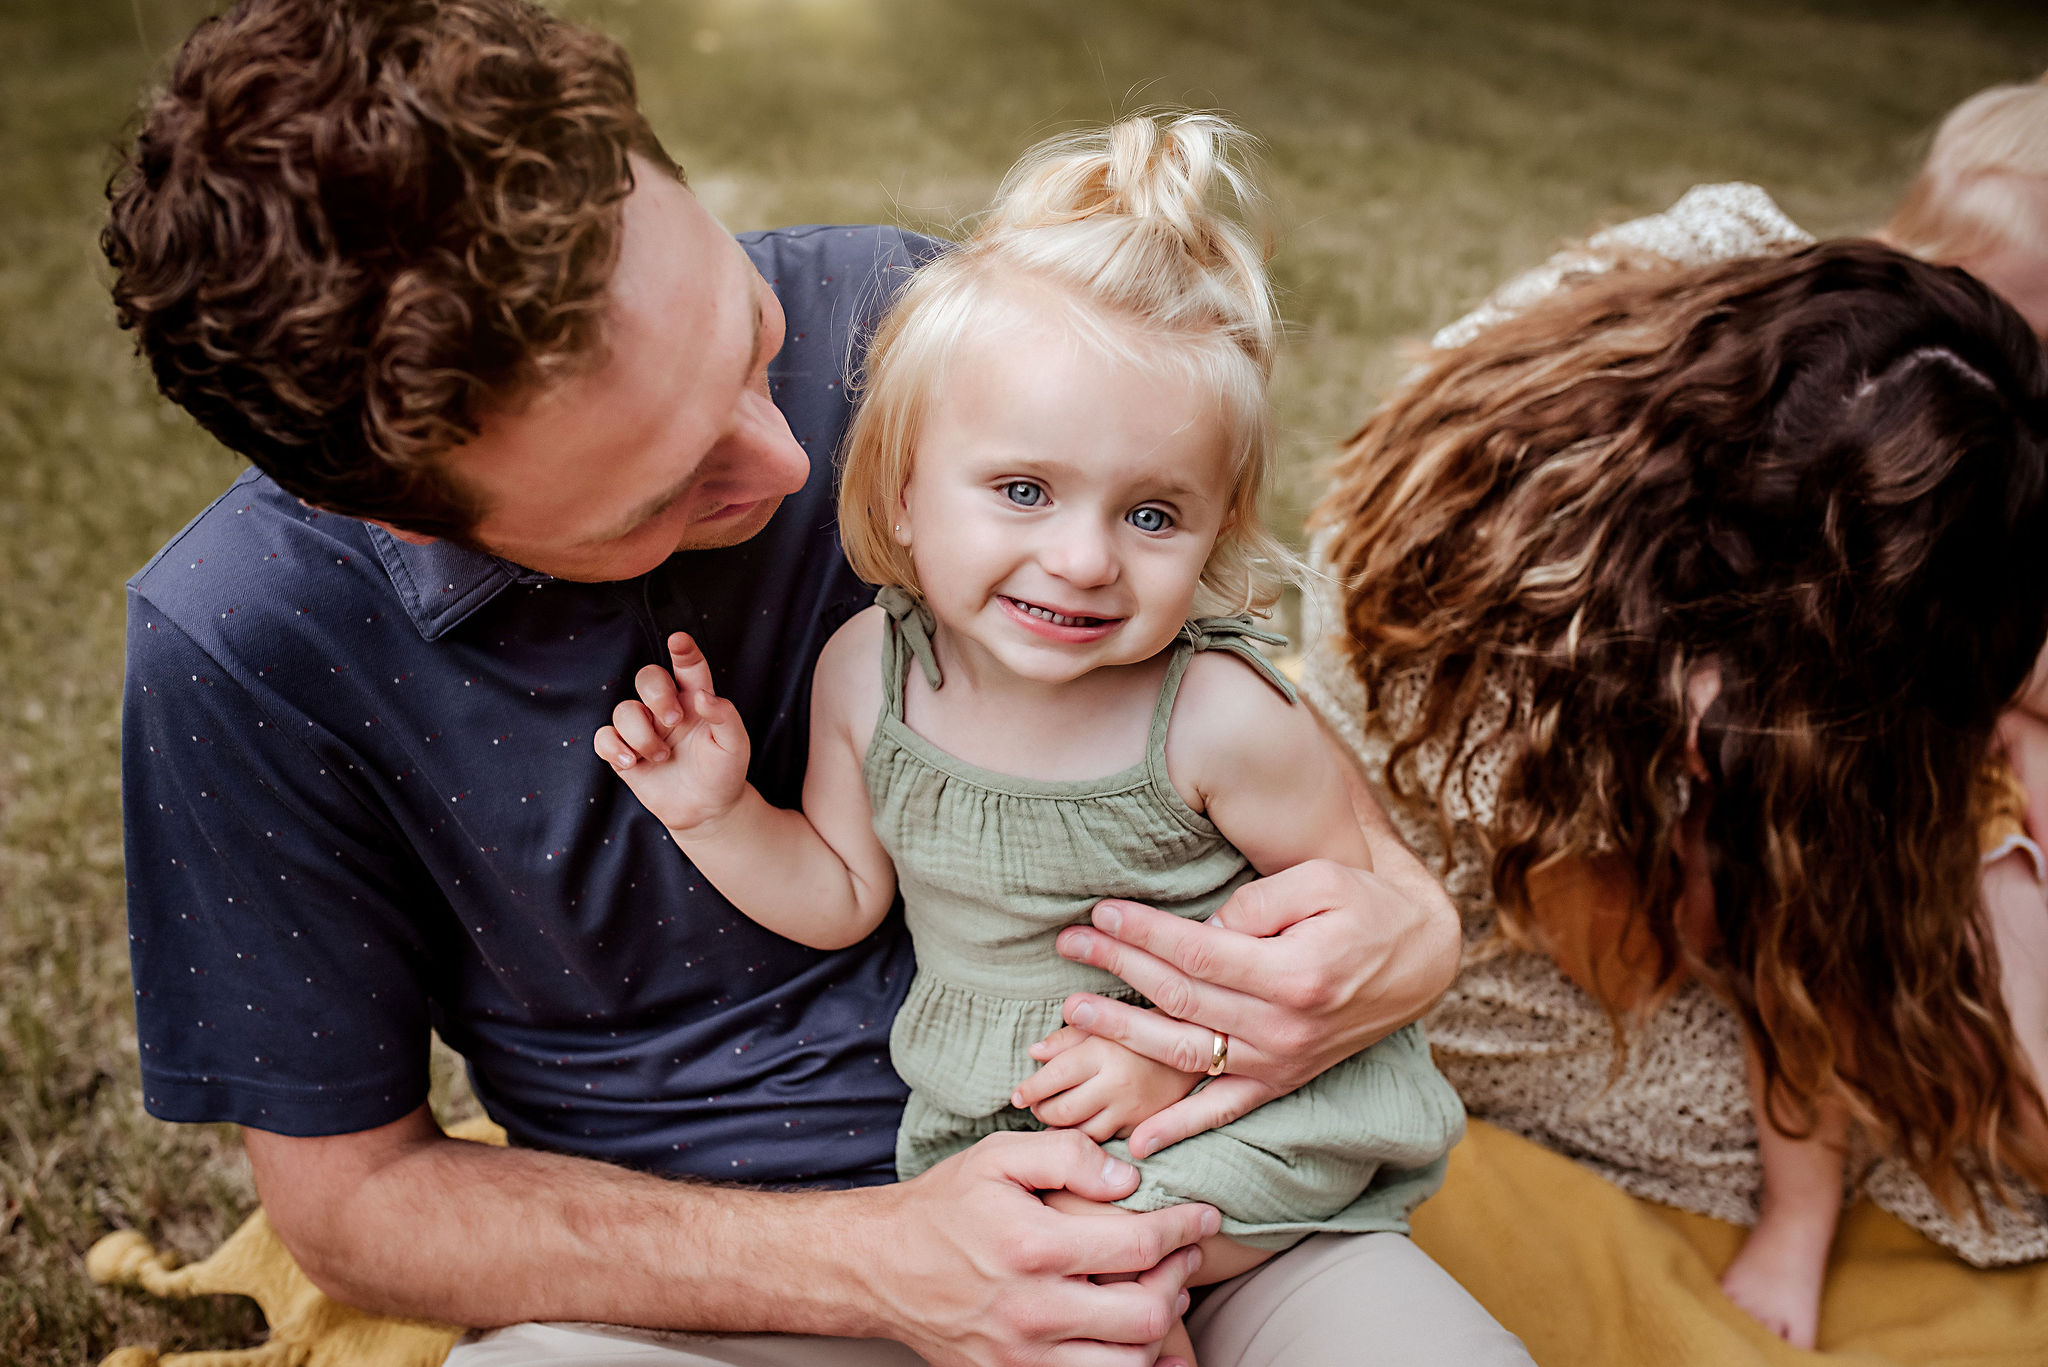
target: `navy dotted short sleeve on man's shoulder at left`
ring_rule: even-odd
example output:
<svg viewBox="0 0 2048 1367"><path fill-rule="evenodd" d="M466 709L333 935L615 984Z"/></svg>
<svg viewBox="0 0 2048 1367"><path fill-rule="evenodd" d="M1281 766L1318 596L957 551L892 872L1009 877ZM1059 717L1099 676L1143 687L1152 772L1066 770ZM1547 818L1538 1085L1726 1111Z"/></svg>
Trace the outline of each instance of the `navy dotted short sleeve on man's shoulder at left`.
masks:
<svg viewBox="0 0 2048 1367"><path fill-rule="evenodd" d="M139 592L123 701L129 953L143 1101L291 1135L426 1099L430 887L332 773ZM428 894L432 896L432 894Z"/></svg>

